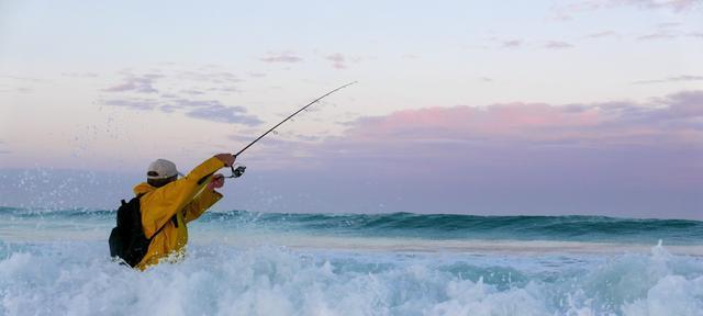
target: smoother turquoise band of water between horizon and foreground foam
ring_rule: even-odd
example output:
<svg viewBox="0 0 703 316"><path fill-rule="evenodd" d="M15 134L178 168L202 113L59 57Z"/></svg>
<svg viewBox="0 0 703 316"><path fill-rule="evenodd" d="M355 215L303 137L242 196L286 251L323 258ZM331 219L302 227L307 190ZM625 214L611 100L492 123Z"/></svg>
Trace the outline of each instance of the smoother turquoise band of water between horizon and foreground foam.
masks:
<svg viewBox="0 0 703 316"><path fill-rule="evenodd" d="M44 229L90 223L104 229L114 211L25 210L0 207L0 229L40 225ZM471 216L411 213L278 214L244 211L205 213L198 219L210 229L227 227L298 232L312 235L391 237L439 240L559 240L655 245L703 245L703 222L633 219L604 216ZM196 224L198 225L198 224ZM20 229L21 230L21 229ZM2 232L2 230L0 230Z"/></svg>

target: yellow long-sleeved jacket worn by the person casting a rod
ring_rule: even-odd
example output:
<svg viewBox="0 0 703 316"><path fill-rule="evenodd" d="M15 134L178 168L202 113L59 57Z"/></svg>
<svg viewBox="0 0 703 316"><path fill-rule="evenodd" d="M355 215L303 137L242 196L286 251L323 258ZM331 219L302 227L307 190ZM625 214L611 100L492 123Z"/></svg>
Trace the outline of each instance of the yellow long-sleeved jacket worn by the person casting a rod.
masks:
<svg viewBox="0 0 703 316"><path fill-rule="evenodd" d="M144 270L171 252L183 253L183 246L188 242L186 224L200 217L222 199L222 194L205 188L210 177L222 167L224 162L212 157L196 167L188 176L161 188L154 188L146 182L134 187L134 194L144 194L140 204L146 238L152 238L152 235L165 225L164 229L154 236L149 249L135 268ZM174 215L178 225L171 219Z"/></svg>

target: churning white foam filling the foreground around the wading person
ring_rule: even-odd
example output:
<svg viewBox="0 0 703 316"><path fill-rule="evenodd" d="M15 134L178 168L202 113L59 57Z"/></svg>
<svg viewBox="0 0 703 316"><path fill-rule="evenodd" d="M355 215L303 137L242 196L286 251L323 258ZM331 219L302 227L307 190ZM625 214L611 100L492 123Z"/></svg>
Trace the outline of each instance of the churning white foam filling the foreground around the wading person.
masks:
<svg viewBox="0 0 703 316"><path fill-rule="evenodd" d="M0 315L701 315L703 260L191 247L140 273L102 242L0 244Z"/></svg>

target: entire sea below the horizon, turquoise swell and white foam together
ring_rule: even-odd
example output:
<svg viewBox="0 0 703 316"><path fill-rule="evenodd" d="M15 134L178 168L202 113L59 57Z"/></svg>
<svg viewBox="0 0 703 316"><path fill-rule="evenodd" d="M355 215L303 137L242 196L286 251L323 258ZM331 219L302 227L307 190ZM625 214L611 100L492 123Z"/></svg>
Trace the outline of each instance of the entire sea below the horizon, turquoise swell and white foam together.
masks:
<svg viewBox="0 0 703 316"><path fill-rule="evenodd" d="M0 315L703 315L703 222L207 213L136 272L114 217L0 207Z"/></svg>

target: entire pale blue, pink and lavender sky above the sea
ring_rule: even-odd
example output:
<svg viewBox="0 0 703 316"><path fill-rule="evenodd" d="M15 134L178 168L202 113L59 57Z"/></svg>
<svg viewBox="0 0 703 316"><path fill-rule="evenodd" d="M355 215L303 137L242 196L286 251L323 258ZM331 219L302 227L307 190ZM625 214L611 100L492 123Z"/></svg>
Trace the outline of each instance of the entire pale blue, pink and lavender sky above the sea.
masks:
<svg viewBox="0 0 703 316"><path fill-rule="evenodd" d="M701 0L0 0L0 205L113 207L358 81L216 207L703 219L701 56Z"/></svg>

